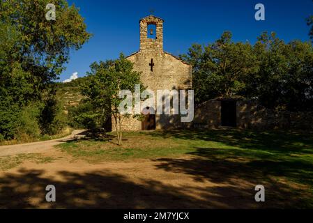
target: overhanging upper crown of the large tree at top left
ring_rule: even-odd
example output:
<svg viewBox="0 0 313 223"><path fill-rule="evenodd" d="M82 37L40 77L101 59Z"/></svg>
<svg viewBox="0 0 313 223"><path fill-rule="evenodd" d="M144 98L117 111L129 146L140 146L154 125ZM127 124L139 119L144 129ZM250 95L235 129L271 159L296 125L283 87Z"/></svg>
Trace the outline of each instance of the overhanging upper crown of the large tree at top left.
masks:
<svg viewBox="0 0 313 223"><path fill-rule="evenodd" d="M56 6L56 21L45 19L48 3ZM1 1L0 11L1 21L20 35L13 47L15 55L10 57L20 59L31 72L29 81L36 84L36 90L61 73L70 49L79 49L91 37L79 10L65 0Z"/></svg>

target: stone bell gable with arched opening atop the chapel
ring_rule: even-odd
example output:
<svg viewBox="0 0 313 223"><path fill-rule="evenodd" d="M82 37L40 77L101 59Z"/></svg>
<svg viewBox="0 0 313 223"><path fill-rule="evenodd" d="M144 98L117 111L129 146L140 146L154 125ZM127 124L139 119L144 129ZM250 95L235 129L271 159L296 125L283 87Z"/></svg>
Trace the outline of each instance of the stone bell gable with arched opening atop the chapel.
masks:
<svg viewBox="0 0 313 223"><path fill-rule="evenodd" d="M140 20L140 51L162 54L163 52L163 22L153 15Z"/></svg>

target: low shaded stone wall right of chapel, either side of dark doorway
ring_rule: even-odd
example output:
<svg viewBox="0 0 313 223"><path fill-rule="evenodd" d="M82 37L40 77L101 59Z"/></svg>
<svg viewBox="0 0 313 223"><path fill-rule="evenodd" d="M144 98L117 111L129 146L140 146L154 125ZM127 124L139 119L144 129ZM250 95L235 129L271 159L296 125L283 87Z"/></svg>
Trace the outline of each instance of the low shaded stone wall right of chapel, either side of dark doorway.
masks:
<svg viewBox="0 0 313 223"><path fill-rule="evenodd" d="M194 110L191 128L220 128L221 101L208 100ZM242 129L313 129L313 112L276 112L266 109L257 102L245 99L236 100L237 127Z"/></svg>

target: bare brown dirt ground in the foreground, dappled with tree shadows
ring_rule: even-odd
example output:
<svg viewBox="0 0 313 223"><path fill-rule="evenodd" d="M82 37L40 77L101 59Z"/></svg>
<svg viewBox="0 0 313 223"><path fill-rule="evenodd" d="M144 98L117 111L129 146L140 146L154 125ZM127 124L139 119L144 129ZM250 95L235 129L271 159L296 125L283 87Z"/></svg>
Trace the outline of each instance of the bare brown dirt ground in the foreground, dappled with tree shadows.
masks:
<svg viewBox="0 0 313 223"><path fill-rule="evenodd" d="M70 157L68 157L70 158ZM186 160L188 162L188 160ZM158 160L89 164L61 160L0 171L0 208L259 208L253 185L199 180ZM45 187L56 187L56 202Z"/></svg>

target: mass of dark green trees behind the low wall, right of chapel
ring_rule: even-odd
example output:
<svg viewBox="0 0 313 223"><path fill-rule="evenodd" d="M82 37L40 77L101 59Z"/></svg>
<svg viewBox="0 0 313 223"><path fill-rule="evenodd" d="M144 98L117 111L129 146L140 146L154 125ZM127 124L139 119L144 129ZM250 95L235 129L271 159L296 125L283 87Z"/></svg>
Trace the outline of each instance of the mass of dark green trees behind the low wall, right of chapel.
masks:
<svg viewBox="0 0 313 223"><path fill-rule="evenodd" d="M255 98L273 109L313 109L313 47L284 43L262 33L257 43L234 43L231 33L207 46L192 45L182 55L193 66L197 103L217 97Z"/></svg>

